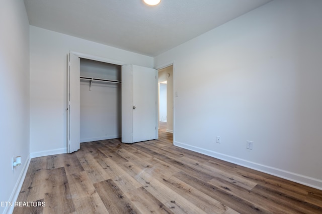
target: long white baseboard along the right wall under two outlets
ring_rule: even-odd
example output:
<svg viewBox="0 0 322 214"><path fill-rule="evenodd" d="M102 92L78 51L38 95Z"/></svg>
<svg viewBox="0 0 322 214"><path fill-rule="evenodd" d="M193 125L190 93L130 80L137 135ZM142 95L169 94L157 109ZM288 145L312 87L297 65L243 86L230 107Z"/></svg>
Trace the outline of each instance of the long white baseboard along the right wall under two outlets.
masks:
<svg viewBox="0 0 322 214"><path fill-rule="evenodd" d="M178 141L174 142L175 146L181 147L181 148L185 148L191 151L195 151L201 154L205 154L208 155L210 157L214 157L214 158L218 158L220 160L224 160L230 163L235 163L237 165L241 165L241 166L245 166L247 168L251 168L251 169L255 169L257 171L261 171L267 174L271 174L277 177L281 177L284 178L286 180L290 180L290 181L294 181L306 186L310 186L316 189L320 189L322 190L322 180L320 179L316 179L313 177L309 177L306 175L302 175L302 174L297 174L294 172L290 172L290 171L286 171L283 169L279 169L279 168L275 168L275 167L271 167L271 166L267 166L267 165L263 165L263 164L259 164L259 163L255 163L255 162L251 162L248 160L244 160L244 159L240 159L237 157L233 157L233 156L229 156L229 155L225 155L222 153L218 153L218 152L214 152L211 150L207 150L207 149L203 149L200 147L196 147L196 146L191 146L185 143L180 143Z"/></svg>

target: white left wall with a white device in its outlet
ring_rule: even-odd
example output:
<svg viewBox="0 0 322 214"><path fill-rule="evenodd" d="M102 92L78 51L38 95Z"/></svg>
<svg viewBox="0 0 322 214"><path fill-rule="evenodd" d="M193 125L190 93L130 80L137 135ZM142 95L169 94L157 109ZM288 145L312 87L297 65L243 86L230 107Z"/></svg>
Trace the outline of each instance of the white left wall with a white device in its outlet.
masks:
<svg viewBox="0 0 322 214"><path fill-rule="evenodd" d="M0 201L13 201L29 161L29 22L23 1L0 7ZM22 165L12 170L12 157ZM0 206L0 213L12 207Z"/></svg>

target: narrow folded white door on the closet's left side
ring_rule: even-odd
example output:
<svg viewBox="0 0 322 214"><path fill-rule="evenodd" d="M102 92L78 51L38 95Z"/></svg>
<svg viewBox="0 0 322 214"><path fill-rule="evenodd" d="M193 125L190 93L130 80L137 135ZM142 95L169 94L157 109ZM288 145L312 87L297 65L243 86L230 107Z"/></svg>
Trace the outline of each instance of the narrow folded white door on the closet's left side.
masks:
<svg viewBox="0 0 322 214"><path fill-rule="evenodd" d="M68 55L67 74L67 141L68 153L80 148L80 59L72 53Z"/></svg>

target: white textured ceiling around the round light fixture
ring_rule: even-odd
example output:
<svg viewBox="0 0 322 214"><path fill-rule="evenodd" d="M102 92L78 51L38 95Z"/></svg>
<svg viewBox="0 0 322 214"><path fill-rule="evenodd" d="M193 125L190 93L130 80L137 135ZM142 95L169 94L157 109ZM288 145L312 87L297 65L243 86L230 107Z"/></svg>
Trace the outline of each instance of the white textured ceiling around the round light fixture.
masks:
<svg viewBox="0 0 322 214"><path fill-rule="evenodd" d="M30 25L156 56L271 0L25 0Z"/></svg>

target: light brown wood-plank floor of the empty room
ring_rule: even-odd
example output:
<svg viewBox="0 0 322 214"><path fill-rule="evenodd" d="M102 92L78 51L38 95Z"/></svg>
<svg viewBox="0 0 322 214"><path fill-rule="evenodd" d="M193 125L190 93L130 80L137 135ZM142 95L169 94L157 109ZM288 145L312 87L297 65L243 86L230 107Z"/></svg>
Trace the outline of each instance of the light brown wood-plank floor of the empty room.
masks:
<svg viewBox="0 0 322 214"><path fill-rule="evenodd" d="M172 145L82 143L31 160L14 213L322 213L322 191Z"/></svg>

